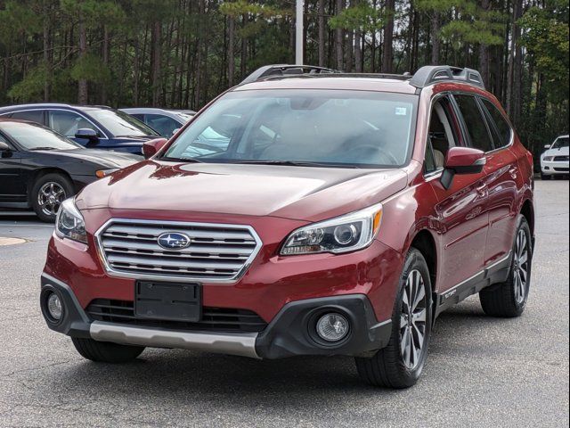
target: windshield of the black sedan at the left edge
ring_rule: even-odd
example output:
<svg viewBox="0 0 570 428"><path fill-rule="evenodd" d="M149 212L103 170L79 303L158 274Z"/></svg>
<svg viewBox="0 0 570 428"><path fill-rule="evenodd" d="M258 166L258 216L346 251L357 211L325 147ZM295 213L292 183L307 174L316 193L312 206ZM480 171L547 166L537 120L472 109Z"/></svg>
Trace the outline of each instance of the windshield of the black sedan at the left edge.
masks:
<svg viewBox="0 0 570 428"><path fill-rule="evenodd" d="M0 129L25 150L70 150L83 148L51 129L33 123L4 122Z"/></svg>

